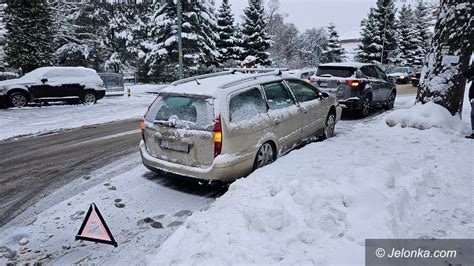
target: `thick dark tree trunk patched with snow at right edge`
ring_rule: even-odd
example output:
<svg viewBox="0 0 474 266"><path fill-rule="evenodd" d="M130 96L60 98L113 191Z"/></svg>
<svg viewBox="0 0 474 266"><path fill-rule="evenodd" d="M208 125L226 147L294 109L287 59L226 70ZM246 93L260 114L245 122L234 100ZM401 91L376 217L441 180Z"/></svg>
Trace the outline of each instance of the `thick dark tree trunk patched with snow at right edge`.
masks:
<svg viewBox="0 0 474 266"><path fill-rule="evenodd" d="M473 2L441 0L435 36L421 75L417 102L435 102L461 115L474 45Z"/></svg>

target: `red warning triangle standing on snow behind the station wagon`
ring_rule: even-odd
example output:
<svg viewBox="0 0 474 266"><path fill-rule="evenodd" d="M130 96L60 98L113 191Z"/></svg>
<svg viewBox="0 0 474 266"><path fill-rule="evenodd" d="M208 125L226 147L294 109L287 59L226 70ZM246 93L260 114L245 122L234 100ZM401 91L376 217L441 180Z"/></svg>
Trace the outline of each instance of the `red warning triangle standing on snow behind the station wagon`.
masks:
<svg viewBox="0 0 474 266"><path fill-rule="evenodd" d="M117 246L117 242L94 203L89 207L84 222L76 235L76 240L78 239Z"/></svg>

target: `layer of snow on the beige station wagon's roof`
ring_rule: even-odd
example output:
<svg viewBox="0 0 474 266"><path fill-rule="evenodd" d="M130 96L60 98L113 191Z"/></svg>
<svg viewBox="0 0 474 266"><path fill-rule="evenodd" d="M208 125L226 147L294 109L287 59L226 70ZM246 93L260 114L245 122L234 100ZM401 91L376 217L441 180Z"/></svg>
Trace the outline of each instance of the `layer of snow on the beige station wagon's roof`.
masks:
<svg viewBox="0 0 474 266"><path fill-rule="evenodd" d="M254 85L254 83L270 82L275 79L283 77L294 78L290 75L276 75L271 73L262 74L244 74L240 72L230 73L227 75L213 76L196 80L178 83L177 85L171 84L164 88L160 93L168 94L187 94L187 95L202 95L215 97L221 91L223 86L229 84L225 88L231 88L238 85L244 84L245 86ZM240 82L242 81L242 82ZM224 89L225 89L224 88Z"/></svg>

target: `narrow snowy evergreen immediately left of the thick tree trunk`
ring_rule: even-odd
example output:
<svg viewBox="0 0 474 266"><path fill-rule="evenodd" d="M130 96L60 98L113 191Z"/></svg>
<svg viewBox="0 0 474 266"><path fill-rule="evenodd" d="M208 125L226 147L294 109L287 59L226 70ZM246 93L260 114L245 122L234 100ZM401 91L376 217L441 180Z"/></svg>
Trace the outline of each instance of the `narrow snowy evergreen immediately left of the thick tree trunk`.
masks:
<svg viewBox="0 0 474 266"><path fill-rule="evenodd" d="M429 47L431 46L431 40L433 38L430 30L430 18L431 12L427 3L423 0L419 0L415 10L413 18L414 27L414 57L411 64L413 66L421 67L425 62L426 55Z"/></svg>

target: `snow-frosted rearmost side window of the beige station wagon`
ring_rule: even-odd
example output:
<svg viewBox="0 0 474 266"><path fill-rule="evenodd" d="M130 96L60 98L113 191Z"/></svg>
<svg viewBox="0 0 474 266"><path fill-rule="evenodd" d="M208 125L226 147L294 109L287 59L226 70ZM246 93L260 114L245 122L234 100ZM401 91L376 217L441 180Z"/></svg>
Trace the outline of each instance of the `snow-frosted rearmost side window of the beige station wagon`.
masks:
<svg viewBox="0 0 474 266"><path fill-rule="evenodd" d="M262 93L257 88L233 96L230 99L229 109L231 122L251 119L267 111Z"/></svg>

